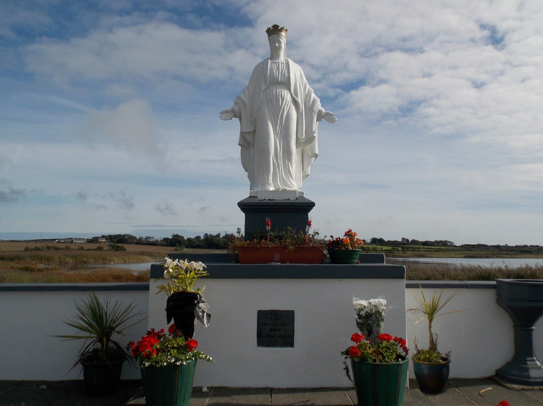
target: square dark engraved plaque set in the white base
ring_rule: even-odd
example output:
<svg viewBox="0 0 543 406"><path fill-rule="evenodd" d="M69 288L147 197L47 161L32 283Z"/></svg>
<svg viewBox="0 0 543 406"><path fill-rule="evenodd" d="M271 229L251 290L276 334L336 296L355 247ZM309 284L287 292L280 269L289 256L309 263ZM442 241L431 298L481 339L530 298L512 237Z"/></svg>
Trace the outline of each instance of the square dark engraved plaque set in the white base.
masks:
<svg viewBox="0 0 543 406"><path fill-rule="evenodd" d="M294 347L294 310L258 310L258 347Z"/></svg>

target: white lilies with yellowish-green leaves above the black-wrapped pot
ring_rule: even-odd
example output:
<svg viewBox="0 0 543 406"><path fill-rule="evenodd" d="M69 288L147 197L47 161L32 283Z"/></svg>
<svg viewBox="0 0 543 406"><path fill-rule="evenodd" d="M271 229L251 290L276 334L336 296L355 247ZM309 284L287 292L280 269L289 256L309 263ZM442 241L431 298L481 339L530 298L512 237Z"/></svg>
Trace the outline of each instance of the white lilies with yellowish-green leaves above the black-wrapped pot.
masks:
<svg viewBox="0 0 543 406"><path fill-rule="evenodd" d="M159 293L166 293L168 296L172 296L175 292L196 292L202 293L205 289L198 288L194 290L194 285L198 279L202 276L209 275L204 270L206 265L201 262L188 262L186 259L179 261L179 259L171 259L166 257L166 263L164 266L164 278L168 281L166 284L157 286Z"/></svg>

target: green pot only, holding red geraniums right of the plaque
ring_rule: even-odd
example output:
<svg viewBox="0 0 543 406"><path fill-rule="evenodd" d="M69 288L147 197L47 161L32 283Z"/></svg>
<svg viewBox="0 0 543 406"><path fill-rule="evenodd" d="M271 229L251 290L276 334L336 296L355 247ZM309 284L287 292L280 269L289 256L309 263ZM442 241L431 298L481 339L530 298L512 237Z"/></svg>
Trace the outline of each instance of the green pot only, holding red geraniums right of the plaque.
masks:
<svg viewBox="0 0 543 406"><path fill-rule="evenodd" d="M401 406L409 359L371 363L351 359L358 406Z"/></svg>

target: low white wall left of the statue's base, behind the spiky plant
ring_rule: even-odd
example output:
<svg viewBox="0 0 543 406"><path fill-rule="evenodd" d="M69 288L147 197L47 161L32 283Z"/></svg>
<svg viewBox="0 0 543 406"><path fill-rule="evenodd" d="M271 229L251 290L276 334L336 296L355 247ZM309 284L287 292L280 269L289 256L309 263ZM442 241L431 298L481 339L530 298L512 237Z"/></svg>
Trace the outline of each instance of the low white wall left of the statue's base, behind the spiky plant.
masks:
<svg viewBox="0 0 543 406"><path fill-rule="evenodd" d="M137 302L137 310L148 314L149 290L119 290L118 284L77 284L75 289L64 290L40 284L32 290L3 290L0 286L0 380L71 380L83 379L80 367L74 368L83 340L62 341L58 334L75 334L77 331L62 322L75 313L74 300L85 299L94 291L102 299L122 301L128 305ZM147 286L147 284L146 284ZM40 289L41 288L41 289ZM50 288L50 290L43 290ZM62 290L59 290L62 288ZM39 289L39 290L35 290ZM111 290L104 290L111 289ZM122 344L140 339L146 331L147 321L124 331ZM140 379L136 366L124 363L122 379Z"/></svg>

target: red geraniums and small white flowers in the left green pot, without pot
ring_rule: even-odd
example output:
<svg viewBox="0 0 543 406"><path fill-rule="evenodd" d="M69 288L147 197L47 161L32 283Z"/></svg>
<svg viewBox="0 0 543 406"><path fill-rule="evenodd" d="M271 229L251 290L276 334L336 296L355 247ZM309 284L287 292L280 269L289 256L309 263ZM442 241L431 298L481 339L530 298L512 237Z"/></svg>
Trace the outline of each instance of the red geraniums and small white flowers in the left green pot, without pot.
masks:
<svg viewBox="0 0 543 406"><path fill-rule="evenodd" d="M196 350L198 341L185 338L175 323L169 326L168 334L164 329L150 329L140 341L129 342L128 347L142 367L185 365L197 359L212 361L210 356Z"/></svg>

